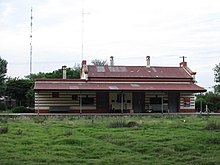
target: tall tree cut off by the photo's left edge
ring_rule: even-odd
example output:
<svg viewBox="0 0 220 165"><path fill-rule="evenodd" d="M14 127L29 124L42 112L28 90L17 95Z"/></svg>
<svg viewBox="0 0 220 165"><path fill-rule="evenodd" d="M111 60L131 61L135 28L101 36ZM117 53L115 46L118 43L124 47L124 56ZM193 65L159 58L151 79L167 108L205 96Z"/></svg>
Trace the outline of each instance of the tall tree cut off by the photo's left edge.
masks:
<svg viewBox="0 0 220 165"><path fill-rule="evenodd" d="M8 62L0 57L0 96L4 95L7 64Z"/></svg>

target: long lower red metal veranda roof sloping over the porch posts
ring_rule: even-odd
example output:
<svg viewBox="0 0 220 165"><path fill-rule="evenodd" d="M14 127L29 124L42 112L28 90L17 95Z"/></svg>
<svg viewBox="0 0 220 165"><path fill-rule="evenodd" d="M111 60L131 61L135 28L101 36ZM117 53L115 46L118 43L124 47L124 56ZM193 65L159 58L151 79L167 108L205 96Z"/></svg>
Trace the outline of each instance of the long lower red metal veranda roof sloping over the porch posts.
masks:
<svg viewBox="0 0 220 165"><path fill-rule="evenodd" d="M86 90L86 91L193 91L206 90L193 83L95 83L85 81L36 80L35 90Z"/></svg>

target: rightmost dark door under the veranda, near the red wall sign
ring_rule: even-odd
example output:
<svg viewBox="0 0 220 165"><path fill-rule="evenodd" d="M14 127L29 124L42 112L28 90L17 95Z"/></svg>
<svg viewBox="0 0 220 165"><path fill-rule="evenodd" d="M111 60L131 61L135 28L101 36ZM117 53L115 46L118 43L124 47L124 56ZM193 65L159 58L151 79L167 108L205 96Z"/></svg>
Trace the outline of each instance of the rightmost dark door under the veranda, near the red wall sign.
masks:
<svg viewBox="0 0 220 165"><path fill-rule="evenodd" d="M179 92L168 93L168 107L170 113L176 113L179 110L180 94Z"/></svg>

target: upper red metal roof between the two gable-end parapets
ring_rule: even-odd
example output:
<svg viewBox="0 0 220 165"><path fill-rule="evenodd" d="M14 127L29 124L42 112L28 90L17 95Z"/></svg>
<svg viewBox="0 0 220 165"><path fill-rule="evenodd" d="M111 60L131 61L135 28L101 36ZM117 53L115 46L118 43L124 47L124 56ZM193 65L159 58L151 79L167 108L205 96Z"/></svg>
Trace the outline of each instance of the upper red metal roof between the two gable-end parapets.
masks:
<svg viewBox="0 0 220 165"><path fill-rule="evenodd" d="M88 70L89 78L192 78L182 67L89 65Z"/></svg>

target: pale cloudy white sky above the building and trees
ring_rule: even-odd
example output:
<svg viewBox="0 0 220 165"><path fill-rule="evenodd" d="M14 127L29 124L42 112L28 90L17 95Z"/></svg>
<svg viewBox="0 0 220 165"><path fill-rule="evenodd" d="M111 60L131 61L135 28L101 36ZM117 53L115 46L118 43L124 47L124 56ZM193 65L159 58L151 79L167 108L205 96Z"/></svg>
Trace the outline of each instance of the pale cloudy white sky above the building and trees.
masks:
<svg viewBox="0 0 220 165"><path fill-rule="evenodd" d="M152 66L175 67L186 56L198 85L215 84L219 0L0 0L0 57L8 77L30 74L31 7L33 73L110 56L115 65L143 66L150 56Z"/></svg>

